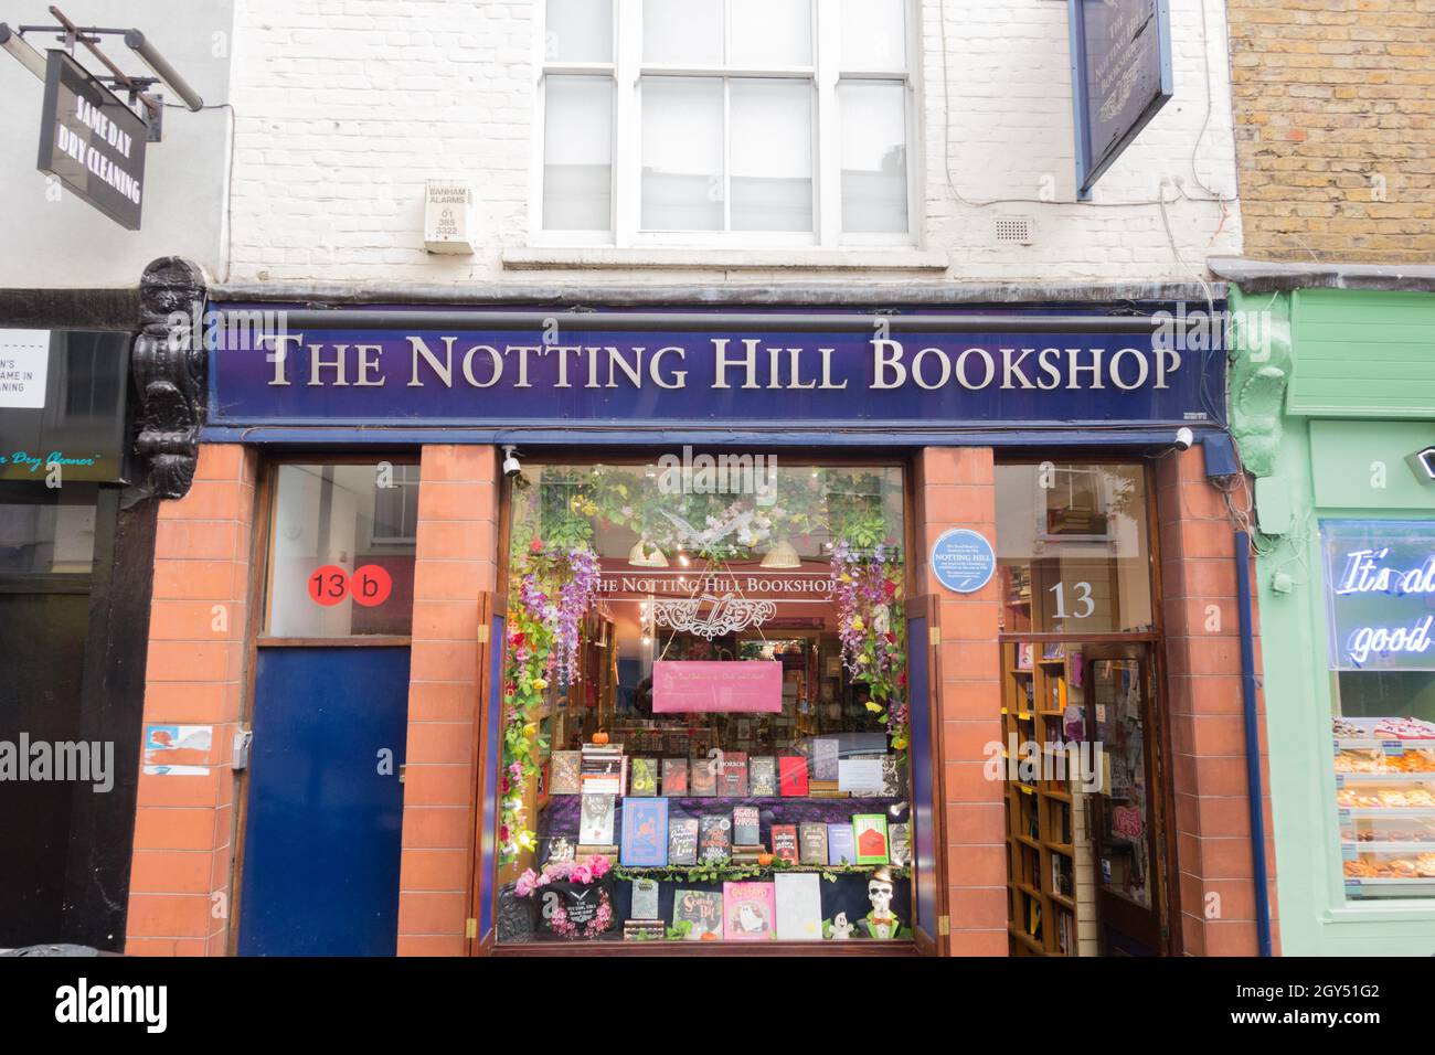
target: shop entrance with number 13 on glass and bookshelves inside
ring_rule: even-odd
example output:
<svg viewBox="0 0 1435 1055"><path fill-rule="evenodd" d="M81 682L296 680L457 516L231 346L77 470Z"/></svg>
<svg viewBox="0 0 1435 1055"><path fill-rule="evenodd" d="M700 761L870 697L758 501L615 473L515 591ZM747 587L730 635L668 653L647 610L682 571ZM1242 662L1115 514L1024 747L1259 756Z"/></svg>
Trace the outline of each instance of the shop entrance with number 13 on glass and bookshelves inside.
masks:
<svg viewBox="0 0 1435 1055"><path fill-rule="evenodd" d="M996 492L1012 955L1159 952L1145 466L997 465Z"/></svg>

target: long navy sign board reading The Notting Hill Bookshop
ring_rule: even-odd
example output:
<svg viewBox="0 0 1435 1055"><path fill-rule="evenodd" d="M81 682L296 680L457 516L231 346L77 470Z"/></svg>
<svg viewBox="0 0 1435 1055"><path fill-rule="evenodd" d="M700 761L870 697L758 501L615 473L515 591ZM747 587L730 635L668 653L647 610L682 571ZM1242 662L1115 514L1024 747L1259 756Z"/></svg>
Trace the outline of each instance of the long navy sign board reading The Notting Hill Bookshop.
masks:
<svg viewBox="0 0 1435 1055"><path fill-rule="evenodd" d="M422 311L329 314L340 319L254 311L250 324L227 309L211 334L210 426L825 428L893 442L917 428L1224 422L1224 353L1208 346L1220 327L1191 342L1101 316L982 316L971 329L850 313L831 327L811 314L735 326L730 311L672 327L653 313L547 326L537 313L449 311L442 326Z"/></svg>

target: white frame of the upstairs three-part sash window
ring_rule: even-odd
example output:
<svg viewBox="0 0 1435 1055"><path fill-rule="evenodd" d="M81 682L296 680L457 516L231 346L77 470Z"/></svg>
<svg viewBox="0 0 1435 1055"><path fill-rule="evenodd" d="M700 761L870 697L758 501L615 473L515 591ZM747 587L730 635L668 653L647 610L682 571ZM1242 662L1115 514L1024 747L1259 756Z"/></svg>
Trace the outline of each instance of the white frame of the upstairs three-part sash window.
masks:
<svg viewBox="0 0 1435 1055"><path fill-rule="evenodd" d="M613 0L613 62L550 62L547 57L547 3L537 0L538 33L534 46L532 161L530 165L528 230L534 247L608 247L608 248L913 248L920 227L920 121L917 106L917 63L920 60L920 10L916 0L904 1L907 30L905 69L842 70L842 23L838 0L811 0L812 55L815 66L791 67L697 67L643 63L643 0ZM730 32L730 0L723 0L725 33ZM729 49L725 49L728 53ZM644 76L715 78L725 83L725 154L729 85L736 79L814 83L812 122L812 231L644 231L641 217L641 79ZM548 76L607 78L613 83L613 159L610 217L606 231L545 230L542 225L545 80ZM848 80L885 80L901 83L905 100L907 136L907 230L903 233L842 231L841 115L838 85ZM725 156L725 181L732 179ZM732 194L725 188L725 227L729 222Z"/></svg>

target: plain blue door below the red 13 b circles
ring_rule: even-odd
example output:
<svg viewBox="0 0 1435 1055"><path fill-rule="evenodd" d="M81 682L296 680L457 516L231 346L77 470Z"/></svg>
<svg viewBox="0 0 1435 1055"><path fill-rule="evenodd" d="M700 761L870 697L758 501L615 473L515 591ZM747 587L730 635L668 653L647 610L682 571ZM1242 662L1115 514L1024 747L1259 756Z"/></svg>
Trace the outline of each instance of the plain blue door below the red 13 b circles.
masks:
<svg viewBox="0 0 1435 1055"><path fill-rule="evenodd" d="M395 953L408 712L406 647L260 650L241 956Z"/></svg>

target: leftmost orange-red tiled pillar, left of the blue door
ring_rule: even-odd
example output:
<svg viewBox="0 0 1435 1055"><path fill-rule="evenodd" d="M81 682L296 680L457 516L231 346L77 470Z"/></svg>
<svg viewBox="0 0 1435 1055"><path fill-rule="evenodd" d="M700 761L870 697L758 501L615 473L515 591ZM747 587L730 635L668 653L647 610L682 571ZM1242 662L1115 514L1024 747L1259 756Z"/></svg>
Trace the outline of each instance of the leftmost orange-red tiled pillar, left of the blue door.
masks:
<svg viewBox="0 0 1435 1055"><path fill-rule="evenodd" d="M205 777L141 772L125 952L222 956L241 713L255 456L204 445L189 494L159 505L145 725L212 729ZM188 759L185 759L188 761Z"/></svg>

